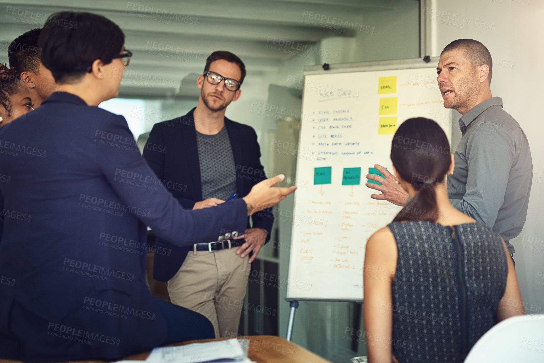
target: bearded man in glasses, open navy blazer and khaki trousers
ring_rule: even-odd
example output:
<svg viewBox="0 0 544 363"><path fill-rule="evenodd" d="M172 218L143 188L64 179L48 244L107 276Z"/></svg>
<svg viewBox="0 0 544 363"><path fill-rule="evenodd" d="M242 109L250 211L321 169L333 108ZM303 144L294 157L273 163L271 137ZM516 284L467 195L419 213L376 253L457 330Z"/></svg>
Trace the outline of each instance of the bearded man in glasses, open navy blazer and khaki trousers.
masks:
<svg viewBox="0 0 544 363"><path fill-rule="evenodd" d="M244 77L240 58L231 52L213 52L196 81L201 90L196 107L151 130L144 158L187 209L213 207L235 193L235 198L242 198L265 179L255 130L225 117L228 104L240 97ZM251 218L252 226L248 218L246 230L224 242L180 248L157 239L159 248L172 253L155 254L154 278L166 282L172 303L206 316L216 337L238 333L248 263L268 241L274 222L268 211Z"/></svg>

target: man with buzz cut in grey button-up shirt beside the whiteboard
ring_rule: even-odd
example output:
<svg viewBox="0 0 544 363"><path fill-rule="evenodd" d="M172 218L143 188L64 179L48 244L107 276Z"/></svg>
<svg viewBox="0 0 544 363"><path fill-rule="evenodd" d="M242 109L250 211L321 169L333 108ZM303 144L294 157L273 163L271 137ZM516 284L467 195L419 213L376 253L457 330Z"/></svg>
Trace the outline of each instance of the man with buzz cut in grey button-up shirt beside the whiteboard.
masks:
<svg viewBox="0 0 544 363"><path fill-rule="evenodd" d="M473 39L454 40L440 54L436 81L444 107L462 115L448 196L456 209L497 232L513 259L509 240L520 234L527 217L533 162L520 124L503 110L503 100L491 95L492 68L489 50ZM408 193L389 171L375 167L386 179L367 175L381 183L366 183L382 192L372 198L404 206Z"/></svg>

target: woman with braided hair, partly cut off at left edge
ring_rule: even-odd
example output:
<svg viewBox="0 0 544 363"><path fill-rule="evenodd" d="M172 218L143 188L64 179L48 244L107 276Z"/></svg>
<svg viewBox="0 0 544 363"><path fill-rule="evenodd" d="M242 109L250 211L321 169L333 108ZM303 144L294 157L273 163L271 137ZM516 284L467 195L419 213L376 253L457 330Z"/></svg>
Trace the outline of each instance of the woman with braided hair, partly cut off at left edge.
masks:
<svg viewBox="0 0 544 363"><path fill-rule="evenodd" d="M0 63L0 127L33 110L30 90L14 67Z"/></svg>

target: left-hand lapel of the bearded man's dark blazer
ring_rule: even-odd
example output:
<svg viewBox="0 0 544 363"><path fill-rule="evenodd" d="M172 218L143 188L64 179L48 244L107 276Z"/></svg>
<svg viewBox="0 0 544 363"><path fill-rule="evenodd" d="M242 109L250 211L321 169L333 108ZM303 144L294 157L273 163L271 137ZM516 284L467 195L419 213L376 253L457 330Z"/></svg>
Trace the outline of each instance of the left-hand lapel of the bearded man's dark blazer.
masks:
<svg viewBox="0 0 544 363"><path fill-rule="evenodd" d="M193 110L182 116L181 118L181 131L183 146L185 147L185 155L187 155L187 162L189 163L189 173L193 178L193 185L195 187L195 193L199 200L202 200L202 180L200 179L200 161L199 161L199 147L196 143L196 129L195 120L193 117ZM185 173L186 170L180 170L180 173Z"/></svg>

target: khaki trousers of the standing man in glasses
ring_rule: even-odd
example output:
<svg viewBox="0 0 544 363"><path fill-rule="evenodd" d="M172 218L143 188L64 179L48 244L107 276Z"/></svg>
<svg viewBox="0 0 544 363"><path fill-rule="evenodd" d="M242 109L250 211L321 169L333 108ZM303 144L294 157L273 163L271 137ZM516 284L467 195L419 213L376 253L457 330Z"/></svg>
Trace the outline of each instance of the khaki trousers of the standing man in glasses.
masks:
<svg viewBox="0 0 544 363"><path fill-rule="evenodd" d="M201 313L212 322L215 337L236 336L250 266L238 247L219 251L190 250L176 275L166 282L172 304Z"/></svg>

